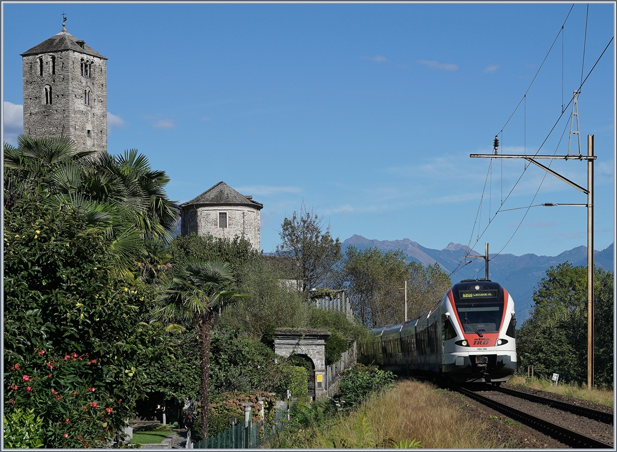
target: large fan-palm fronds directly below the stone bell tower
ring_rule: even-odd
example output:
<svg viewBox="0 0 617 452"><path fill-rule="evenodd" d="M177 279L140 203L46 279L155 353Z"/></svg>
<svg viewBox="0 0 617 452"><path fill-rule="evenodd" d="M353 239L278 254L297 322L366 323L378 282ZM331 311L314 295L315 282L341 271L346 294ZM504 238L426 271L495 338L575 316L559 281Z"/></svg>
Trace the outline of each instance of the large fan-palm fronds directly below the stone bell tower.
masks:
<svg viewBox="0 0 617 452"><path fill-rule="evenodd" d="M4 144L4 206L23 196L57 209L77 209L86 224L106 232L114 268L129 274L148 238L168 242L179 207L165 193L169 177L152 170L136 149L123 156L75 153L67 137L20 135Z"/></svg>

